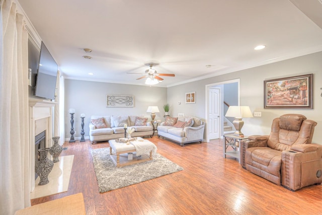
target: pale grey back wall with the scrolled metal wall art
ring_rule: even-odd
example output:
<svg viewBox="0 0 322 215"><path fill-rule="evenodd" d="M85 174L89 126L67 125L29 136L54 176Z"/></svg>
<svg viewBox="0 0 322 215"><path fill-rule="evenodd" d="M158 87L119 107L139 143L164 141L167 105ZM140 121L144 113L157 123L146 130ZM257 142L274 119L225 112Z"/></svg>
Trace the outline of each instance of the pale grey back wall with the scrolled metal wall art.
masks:
<svg viewBox="0 0 322 215"><path fill-rule="evenodd" d="M106 95L134 96L134 107L106 107ZM65 138L70 138L69 108L75 109L74 137L81 137L81 113L86 114L85 137L89 136L89 122L92 115L144 115L151 120L150 113L146 113L148 106L158 106L160 113L155 119L164 119L163 105L167 103L167 88L124 85L103 82L89 82L65 80Z"/></svg>

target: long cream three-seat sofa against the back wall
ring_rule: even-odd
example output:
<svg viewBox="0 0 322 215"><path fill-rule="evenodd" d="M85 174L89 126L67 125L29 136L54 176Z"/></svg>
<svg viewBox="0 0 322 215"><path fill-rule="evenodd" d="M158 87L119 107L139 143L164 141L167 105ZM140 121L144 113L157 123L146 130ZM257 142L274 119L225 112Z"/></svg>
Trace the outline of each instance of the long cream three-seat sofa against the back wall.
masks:
<svg viewBox="0 0 322 215"><path fill-rule="evenodd" d="M128 128L134 128L135 131L131 133L131 137L134 136L152 136L153 126L150 122L146 122L146 125L135 125L136 118L144 118L143 116L91 116L90 120L90 140L92 144L97 141L106 141L110 139L117 139L124 137L124 124L127 124ZM97 128L92 119L104 118L106 127ZM146 118L147 120L147 118Z"/></svg>

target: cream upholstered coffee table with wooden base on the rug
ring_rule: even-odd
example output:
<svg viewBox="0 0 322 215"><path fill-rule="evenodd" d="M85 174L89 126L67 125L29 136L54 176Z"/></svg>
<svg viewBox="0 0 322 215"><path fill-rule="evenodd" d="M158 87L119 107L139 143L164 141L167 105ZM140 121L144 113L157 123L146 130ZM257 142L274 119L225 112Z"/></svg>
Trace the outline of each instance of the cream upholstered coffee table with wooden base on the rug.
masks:
<svg viewBox="0 0 322 215"><path fill-rule="evenodd" d="M154 144L150 142L147 139L143 139L141 137L136 137L137 141L142 141L144 144L147 145L153 145L153 147L156 149ZM149 156L142 155L142 156L136 156L136 149L132 144L126 144L123 142L117 142L115 139L109 140L110 144L110 156L112 161L115 163L116 167L123 167L127 165L137 164L145 161L152 160L152 152L153 150L149 151ZM115 152L115 154L112 153L112 149ZM128 154L133 153L133 158L130 160Z"/></svg>

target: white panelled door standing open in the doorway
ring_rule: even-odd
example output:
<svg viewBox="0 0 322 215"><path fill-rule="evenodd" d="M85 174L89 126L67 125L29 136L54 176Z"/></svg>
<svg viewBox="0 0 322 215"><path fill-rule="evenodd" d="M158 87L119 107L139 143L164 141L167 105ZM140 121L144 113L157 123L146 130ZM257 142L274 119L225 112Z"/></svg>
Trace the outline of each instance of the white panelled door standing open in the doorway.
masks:
<svg viewBox="0 0 322 215"><path fill-rule="evenodd" d="M220 131L220 89L209 88L209 139L218 139Z"/></svg>

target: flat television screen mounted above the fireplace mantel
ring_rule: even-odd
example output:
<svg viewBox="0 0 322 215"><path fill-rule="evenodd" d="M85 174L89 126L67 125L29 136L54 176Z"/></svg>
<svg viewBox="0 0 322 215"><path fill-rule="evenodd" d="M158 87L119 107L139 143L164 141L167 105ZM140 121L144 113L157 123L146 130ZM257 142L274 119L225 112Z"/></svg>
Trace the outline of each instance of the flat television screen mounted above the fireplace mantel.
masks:
<svg viewBox="0 0 322 215"><path fill-rule="evenodd" d="M58 65L41 42L35 96L55 99Z"/></svg>

